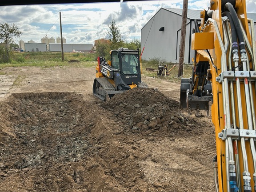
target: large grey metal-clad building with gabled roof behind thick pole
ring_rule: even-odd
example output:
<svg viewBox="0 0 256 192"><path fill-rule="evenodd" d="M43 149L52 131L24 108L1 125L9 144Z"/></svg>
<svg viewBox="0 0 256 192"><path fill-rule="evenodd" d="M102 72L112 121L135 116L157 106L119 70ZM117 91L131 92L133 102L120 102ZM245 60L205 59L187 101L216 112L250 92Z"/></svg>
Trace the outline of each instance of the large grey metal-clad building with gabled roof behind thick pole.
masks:
<svg viewBox="0 0 256 192"><path fill-rule="evenodd" d="M188 10L185 39L184 63L192 63L194 52L191 49L191 36L194 20L200 23L201 10ZM248 18L256 21L255 13L248 13ZM182 9L161 8L141 29L142 59L179 63ZM256 31L256 22L254 22Z"/></svg>

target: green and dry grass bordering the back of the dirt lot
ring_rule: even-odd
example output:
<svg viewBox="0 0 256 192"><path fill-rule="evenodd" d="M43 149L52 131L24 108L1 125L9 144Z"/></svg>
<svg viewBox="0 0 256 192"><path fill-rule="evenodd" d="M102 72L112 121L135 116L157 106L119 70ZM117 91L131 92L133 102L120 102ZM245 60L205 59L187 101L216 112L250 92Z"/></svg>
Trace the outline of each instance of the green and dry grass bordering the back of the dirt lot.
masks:
<svg viewBox="0 0 256 192"><path fill-rule="evenodd" d="M51 67L95 67L97 64L96 53L84 53L84 52L65 52L64 61L62 61L61 52L13 52L10 63L0 63L1 68L5 67L24 67L24 66L36 66L41 68ZM78 60L80 62L68 62L70 60ZM168 65L169 76L164 78L163 76L157 76L157 69L159 65L159 58L152 58L148 61L142 61L142 72L144 76L156 77L159 80L169 80L174 82L180 82L181 77L178 77L179 64L166 63ZM154 69L149 71L147 68ZM192 65L184 64L183 78L190 78L192 75ZM22 77L17 78L17 83Z"/></svg>

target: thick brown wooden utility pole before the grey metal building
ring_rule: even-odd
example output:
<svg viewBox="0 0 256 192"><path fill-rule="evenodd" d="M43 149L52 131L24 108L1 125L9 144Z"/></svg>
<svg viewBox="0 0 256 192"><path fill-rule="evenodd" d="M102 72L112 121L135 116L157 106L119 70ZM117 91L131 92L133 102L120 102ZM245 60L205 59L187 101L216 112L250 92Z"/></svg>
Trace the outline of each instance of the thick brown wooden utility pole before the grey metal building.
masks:
<svg viewBox="0 0 256 192"><path fill-rule="evenodd" d="M183 75L187 15L188 15L188 0L183 0L178 77Z"/></svg>

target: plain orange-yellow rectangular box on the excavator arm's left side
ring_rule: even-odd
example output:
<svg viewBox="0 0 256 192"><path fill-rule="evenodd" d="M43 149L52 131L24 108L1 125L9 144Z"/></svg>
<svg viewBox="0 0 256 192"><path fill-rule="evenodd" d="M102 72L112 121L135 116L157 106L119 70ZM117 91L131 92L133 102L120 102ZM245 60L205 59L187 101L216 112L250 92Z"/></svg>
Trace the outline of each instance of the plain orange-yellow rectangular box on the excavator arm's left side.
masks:
<svg viewBox="0 0 256 192"><path fill-rule="evenodd" d="M214 48L214 32L197 32L192 34L192 50L205 50Z"/></svg>

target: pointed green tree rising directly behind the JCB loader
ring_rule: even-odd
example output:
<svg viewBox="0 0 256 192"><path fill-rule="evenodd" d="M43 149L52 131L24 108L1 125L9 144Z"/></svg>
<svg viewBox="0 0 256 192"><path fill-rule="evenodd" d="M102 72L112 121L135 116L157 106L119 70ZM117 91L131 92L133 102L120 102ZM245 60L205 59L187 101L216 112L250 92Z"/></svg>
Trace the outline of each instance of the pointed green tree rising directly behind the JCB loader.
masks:
<svg viewBox="0 0 256 192"><path fill-rule="evenodd" d="M112 20L108 24L109 30L106 32L106 38L110 41L111 49L117 49L124 43L124 37L122 36L118 25L115 20Z"/></svg>

